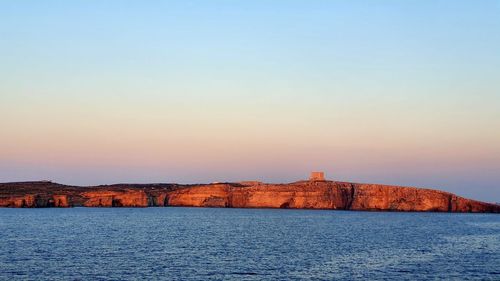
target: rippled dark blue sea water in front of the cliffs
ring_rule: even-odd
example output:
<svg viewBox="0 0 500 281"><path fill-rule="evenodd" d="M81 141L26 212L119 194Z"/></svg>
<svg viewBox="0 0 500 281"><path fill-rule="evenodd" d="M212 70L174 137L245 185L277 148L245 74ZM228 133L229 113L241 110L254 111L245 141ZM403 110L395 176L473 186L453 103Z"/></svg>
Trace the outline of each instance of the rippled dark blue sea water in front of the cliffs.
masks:
<svg viewBox="0 0 500 281"><path fill-rule="evenodd" d="M500 215L0 209L1 280L500 280Z"/></svg>

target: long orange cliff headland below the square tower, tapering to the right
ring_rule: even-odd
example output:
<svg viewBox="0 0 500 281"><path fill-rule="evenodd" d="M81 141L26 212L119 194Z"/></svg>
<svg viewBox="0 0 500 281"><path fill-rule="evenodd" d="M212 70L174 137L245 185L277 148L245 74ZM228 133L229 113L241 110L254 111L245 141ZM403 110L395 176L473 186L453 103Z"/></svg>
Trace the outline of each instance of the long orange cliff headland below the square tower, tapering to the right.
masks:
<svg viewBox="0 0 500 281"><path fill-rule="evenodd" d="M500 206L413 187L331 181L200 185L167 194L169 206L340 209L360 211L500 212Z"/></svg>

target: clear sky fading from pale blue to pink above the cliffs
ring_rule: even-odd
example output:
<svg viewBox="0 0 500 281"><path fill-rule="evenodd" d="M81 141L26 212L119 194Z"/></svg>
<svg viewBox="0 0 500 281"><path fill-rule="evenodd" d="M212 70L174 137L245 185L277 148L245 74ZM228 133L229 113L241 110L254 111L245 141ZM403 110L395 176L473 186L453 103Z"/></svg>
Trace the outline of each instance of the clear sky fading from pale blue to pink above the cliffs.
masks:
<svg viewBox="0 0 500 281"><path fill-rule="evenodd" d="M500 1L1 1L0 182L500 202Z"/></svg>

